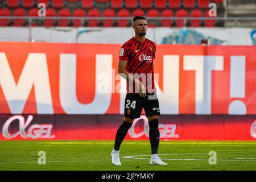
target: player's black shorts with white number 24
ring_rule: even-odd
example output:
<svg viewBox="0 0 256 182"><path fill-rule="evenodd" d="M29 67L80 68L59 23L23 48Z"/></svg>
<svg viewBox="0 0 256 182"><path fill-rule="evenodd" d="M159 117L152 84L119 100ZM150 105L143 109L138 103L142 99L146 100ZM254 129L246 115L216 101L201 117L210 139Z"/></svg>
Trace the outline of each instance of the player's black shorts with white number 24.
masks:
<svg viewBox="0 0 256 182"><path fill-rule="evenodd" d="M152 115L160 115L159 102L156 92L149 94L146 97L139 96L138 93L127 93L125 97L125 117L139 118L141 117L142 109L146 113L146 117Z"/></svg>

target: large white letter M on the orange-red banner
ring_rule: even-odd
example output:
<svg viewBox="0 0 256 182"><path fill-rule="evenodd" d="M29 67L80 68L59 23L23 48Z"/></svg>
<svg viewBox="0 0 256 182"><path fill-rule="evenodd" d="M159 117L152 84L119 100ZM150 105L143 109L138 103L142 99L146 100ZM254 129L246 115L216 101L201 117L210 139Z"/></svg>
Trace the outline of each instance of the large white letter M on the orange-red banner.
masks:
<svg viewBox="0 0 256 182"><path fill-rule="evenodd" d="M53 114L46 54L29 53L16 83L6 54L0 52L0 87L12 114L22 113L32 86L38 114Z"/></svg>

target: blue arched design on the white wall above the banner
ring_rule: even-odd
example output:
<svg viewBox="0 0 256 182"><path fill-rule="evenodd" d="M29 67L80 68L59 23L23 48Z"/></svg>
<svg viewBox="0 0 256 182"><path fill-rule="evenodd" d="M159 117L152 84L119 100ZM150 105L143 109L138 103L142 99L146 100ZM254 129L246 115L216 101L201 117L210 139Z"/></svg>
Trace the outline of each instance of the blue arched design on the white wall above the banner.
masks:
<svg viewBox="0 0 256 182"><path fill-rule="evenodd" d="M162 44L189 44L200 45L201 39L208 39L211 45L222 45L223 40L205 36L195 30L180 30L171 33L162 40Z"/></svg>

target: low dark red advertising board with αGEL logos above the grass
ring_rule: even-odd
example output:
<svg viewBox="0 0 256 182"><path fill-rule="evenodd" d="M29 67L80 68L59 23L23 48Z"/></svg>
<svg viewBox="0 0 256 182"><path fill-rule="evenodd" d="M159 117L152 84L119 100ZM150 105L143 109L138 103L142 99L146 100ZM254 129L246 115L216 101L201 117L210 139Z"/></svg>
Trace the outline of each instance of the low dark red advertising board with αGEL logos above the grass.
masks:
<svg viewBox="0 0 256 182"><path fill-rule="evenodd" d="M161 115L161 140L256 140L255 115ZM0 140L114 140L122 115L1 115ZM148 140L135 119L128 140Z"/></svg>

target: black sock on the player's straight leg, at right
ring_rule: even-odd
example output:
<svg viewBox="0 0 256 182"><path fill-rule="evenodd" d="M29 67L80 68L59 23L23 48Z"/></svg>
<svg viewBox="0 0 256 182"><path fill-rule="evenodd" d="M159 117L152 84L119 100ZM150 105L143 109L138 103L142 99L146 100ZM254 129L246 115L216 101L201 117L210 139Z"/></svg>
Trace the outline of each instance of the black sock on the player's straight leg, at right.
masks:
<svg viewBox="0 0 256 182"><path fill-rule="evenodd" d="M148 122L150 126L150 145L151 145L151 154L158 154L158 146L159 146L159 137L160 132L158 129L158 119L154 119Z"/></svg>

